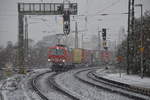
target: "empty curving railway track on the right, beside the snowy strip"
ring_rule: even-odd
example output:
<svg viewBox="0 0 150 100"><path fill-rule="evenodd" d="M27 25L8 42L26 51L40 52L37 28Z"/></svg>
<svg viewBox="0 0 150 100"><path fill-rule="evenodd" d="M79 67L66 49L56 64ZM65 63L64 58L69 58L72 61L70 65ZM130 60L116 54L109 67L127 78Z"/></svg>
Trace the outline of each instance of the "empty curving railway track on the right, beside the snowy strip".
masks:
<svg viewBox="0 0 150 100"><path fill-rule="evenodd" d="M104 71L104 70L102 70L102 71ZM82 73L86 74L86 77L92 81L89 81L89 80L85 79L84 77L81 77L81 76L83 76ZM140 94L140 93L137 93L136 91L128 89L125 85L122 85L120 83L118 83L116 85L111 81L106 81L105 79L102 80L101 78L98 78L98 76L94 75L93 69L92 70L91 69L81 70L81 71L77 72L74 76L78 80L80 80L86 84L92 85L97 88L105 89L107 91L116 92L118 94L127 96L129 98L133 98L135 100L149 100L150 99L148 96L145 96L145 95L143 96L143 94Z"/></svg>

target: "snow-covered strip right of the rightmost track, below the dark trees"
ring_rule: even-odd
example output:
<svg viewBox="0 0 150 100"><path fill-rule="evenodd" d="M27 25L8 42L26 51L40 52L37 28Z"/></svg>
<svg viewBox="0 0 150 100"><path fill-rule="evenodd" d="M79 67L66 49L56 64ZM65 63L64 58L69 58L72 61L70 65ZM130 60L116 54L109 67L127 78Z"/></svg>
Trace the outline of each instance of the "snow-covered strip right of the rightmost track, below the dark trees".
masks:
<svg viewBox="0 0 150 100"><path fill-rule="evenodd" d="M150 78L148 77L144 77L142 79L138 75L127 75L126 73L107 73L107 71L102 72L101 69L97 70L96 73L99 74L100 77L104 77L110 80L150 89Z"/></svg>

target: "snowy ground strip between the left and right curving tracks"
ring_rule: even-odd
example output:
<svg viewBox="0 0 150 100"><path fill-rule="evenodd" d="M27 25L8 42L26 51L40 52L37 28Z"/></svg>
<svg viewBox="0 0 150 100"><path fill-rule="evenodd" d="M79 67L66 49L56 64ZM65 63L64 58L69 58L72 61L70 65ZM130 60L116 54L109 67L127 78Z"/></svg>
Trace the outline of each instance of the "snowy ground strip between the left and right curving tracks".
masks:
<svg viewBox="0 0 150 100"><path fill-rule="evenodd" d="M77 70L62 73L56 76L55 80L64 89L78 95L81 100L131 100L122 95L117 95L82 83L73 76L76 72Z"/></svg>

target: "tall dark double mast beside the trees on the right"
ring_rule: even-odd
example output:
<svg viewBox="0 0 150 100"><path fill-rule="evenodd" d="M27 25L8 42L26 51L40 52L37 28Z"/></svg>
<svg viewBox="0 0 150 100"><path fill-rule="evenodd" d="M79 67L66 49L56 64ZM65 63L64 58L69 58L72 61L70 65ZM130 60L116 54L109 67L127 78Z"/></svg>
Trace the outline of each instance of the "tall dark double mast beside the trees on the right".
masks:
<svg viewBox="0 0 150 100"><path fill-rule="evenodd" d="M134 0L128 2L127 74L135 67Z"/></svg>

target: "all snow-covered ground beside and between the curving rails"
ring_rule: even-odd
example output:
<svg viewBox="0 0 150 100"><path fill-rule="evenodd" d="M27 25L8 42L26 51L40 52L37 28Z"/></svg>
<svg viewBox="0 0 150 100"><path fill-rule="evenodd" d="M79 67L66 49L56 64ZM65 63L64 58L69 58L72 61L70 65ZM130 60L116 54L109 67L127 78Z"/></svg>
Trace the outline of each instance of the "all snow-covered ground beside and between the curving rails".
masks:
<svg viewBox="0 0 150 100"><path fill-rule="evenodd" d="M2 93L4 100L41 100L41 98L31 89L29 80L47 70L49 69L35 69L27 75L13 75L7 80L0 81L0 94ZM82 83L73 76L78 70L80 69L59 74L56 76L55 80L60 86L79 96L81 100L130 100L130 98ZM123 73L120 78L118 73L102 73L101 71L102 70L97 70L97 73L106 78L147 88L150 87L148 84L150 83L149 78L141 79L139 76L128 76L125 73ZM44 78L39 81L39 88L45 92L50 100L67 100L68 98L65 96L63 97L63 94L61 95L52 89L50 90L48 84L45 84L47 83L46 79L49 75L45 75ZM0 100L1 99L0 95Z"/></svg>

